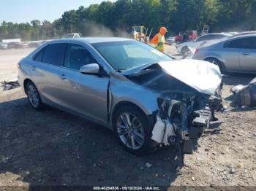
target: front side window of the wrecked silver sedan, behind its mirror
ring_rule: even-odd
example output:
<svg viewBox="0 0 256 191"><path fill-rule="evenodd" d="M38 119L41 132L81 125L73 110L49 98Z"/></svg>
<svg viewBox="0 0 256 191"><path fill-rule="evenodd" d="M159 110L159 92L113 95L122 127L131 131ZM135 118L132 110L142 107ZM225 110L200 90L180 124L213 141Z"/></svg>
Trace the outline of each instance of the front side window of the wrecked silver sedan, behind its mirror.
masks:
<svg viewBox="0 0 256 191"><path fill-rule="evenodd" d="M80 67L89 63L97 63L91 53L79 44L67 46L64 66L69 69L80 70Z"/></svg>

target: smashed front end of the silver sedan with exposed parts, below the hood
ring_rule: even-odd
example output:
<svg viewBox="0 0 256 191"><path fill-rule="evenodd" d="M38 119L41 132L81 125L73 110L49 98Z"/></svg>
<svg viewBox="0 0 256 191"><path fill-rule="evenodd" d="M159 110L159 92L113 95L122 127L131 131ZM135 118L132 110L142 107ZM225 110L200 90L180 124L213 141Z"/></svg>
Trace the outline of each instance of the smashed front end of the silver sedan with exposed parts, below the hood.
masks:
<svg viewBox="0 0 256 191"><path fill-rule="evenodd" d="M182 144L184 153L192 153L206 128L219 126L214 112L222 106L222 99L217 96L168 93L157 102L159 112L151 139L158 144Z"/></svg>

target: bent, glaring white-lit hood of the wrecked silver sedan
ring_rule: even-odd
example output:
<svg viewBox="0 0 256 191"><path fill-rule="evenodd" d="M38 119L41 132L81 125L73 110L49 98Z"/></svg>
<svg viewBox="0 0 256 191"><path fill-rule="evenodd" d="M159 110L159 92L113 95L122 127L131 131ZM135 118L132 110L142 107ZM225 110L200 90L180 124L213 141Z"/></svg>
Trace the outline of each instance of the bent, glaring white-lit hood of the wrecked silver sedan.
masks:
<svg viewBox="0 0 256 191"><path fill-rule="evenodd" d="M214 63L184 59L179 61L159 62L159 66L200 93L215 95L222 82L219 67Z"/></svg>

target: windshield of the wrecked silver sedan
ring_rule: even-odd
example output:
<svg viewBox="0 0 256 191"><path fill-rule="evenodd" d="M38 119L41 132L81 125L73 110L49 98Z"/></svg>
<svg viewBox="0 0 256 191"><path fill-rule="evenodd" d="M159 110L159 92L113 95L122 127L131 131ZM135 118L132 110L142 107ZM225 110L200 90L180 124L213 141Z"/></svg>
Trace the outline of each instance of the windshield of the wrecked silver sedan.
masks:
<svg viewBox="0 0 256 191"><path fill-rule="evenodd" d="M125 71L148 63L173 60L147 44L132 40L100 42L92 45L116 71Z"/></svg>

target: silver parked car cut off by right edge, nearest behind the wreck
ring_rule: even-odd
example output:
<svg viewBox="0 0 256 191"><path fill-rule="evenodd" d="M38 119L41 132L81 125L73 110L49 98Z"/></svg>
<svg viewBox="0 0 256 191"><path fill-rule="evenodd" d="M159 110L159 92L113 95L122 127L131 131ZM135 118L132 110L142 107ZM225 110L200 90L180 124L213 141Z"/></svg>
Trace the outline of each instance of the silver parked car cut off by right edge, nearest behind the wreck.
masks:
<svg viewBox="0 0 256 191"><path fill-rule="evenodd" d="M193 59L217 64L222 72L256 73L256 34L236 36L198 47Z"/></svg>

